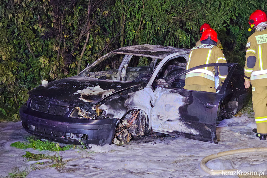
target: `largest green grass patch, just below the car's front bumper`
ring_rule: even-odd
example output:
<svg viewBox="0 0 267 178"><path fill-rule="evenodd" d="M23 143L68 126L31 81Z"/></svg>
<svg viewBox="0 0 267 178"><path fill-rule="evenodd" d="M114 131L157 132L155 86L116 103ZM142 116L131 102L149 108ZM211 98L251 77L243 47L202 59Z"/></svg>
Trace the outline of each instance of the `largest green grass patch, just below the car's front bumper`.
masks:
<svg viewBox="0 0 267 178"><path fill-rule="evenodd" d="M65 151L71 148L75 148L76 145L59 146L53 141L41 141L35 136L27 137L28 142L17 141L11 143L11 146L19 149L33 148L35 150L48 150L48 151Z"/></svg>

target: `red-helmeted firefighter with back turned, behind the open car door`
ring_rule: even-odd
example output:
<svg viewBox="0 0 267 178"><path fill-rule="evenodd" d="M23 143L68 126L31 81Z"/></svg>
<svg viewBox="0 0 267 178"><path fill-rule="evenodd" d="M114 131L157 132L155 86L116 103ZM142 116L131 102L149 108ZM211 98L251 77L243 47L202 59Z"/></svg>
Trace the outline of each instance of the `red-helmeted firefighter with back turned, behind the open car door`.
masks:
<svg viewBox="0 0 267 178"><path fill-rule="evenodd" d="M201 44L191 49L186 69L209 63L226 63L220 48L217 47L217 33L212 28L205 30L200 38ZM185 76L184 89L216 92L214 67L205 67L188 72ZM220 89L226 75L227 67L219 67Z"/></svg>

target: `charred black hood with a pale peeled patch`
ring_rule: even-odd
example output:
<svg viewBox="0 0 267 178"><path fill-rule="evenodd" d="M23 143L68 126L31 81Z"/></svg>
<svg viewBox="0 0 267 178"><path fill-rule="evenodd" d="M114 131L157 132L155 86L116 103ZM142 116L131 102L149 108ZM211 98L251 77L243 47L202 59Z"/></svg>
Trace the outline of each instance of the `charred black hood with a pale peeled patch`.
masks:
<svg viewBox="0 0 267 178"><path fill-rule="evenodd" d="M28 94L58 101L98 103L113 93L141 86L142 83L73 76L40 85Z"/></svg>

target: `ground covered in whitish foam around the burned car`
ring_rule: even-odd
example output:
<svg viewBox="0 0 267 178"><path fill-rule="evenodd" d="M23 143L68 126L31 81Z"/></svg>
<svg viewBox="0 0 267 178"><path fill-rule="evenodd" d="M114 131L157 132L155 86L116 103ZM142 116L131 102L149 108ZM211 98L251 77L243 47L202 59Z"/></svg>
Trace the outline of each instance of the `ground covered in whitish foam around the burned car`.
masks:
<svg viewBox="0 0 267 178"><path fill-rule="evenodd" d="M22 128L20 122L2 122L0 123L0 178L8 177L9 173L15 171L27 171L27 178L206 177L209 175L200 168L200 161L205 156L241 148L267 147L267 141L256 138L256 134L252 132L253 128L256 128L254 119L242 115L220 122L217 126L218 144L183 137L153 135L123 146L89 145L91 148L87 150L52 152L11 147L11 143L24 141L30 134ZM28 162L22 157L25 151L34 154L60 155L65 164L56 168L46 164L35 164L34 161ZM227 156L209 161L206 165L214 170L237 168L242 171L263 171L267 169L267 154L262 152ZM267 175L266 170L265 172Z"/></svg>

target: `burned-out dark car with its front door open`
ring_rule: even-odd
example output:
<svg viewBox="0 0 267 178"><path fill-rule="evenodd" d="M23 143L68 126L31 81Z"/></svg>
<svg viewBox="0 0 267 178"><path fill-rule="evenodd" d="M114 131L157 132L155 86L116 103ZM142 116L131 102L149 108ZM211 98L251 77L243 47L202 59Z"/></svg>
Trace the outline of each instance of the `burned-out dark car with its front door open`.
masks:
<svg viewBox="0 0 267 178"><path fill-rule="evenodd" d="M237 113L247 96L243 73L236 63L186 70L189 52L153 45L114 50L78 76L29 91L19 111L22 125L33 135L70 144L119 144L151 131L217 143L217 118ZM183 89L187 72L207 66L228 67L217 93Z"/></svg>

